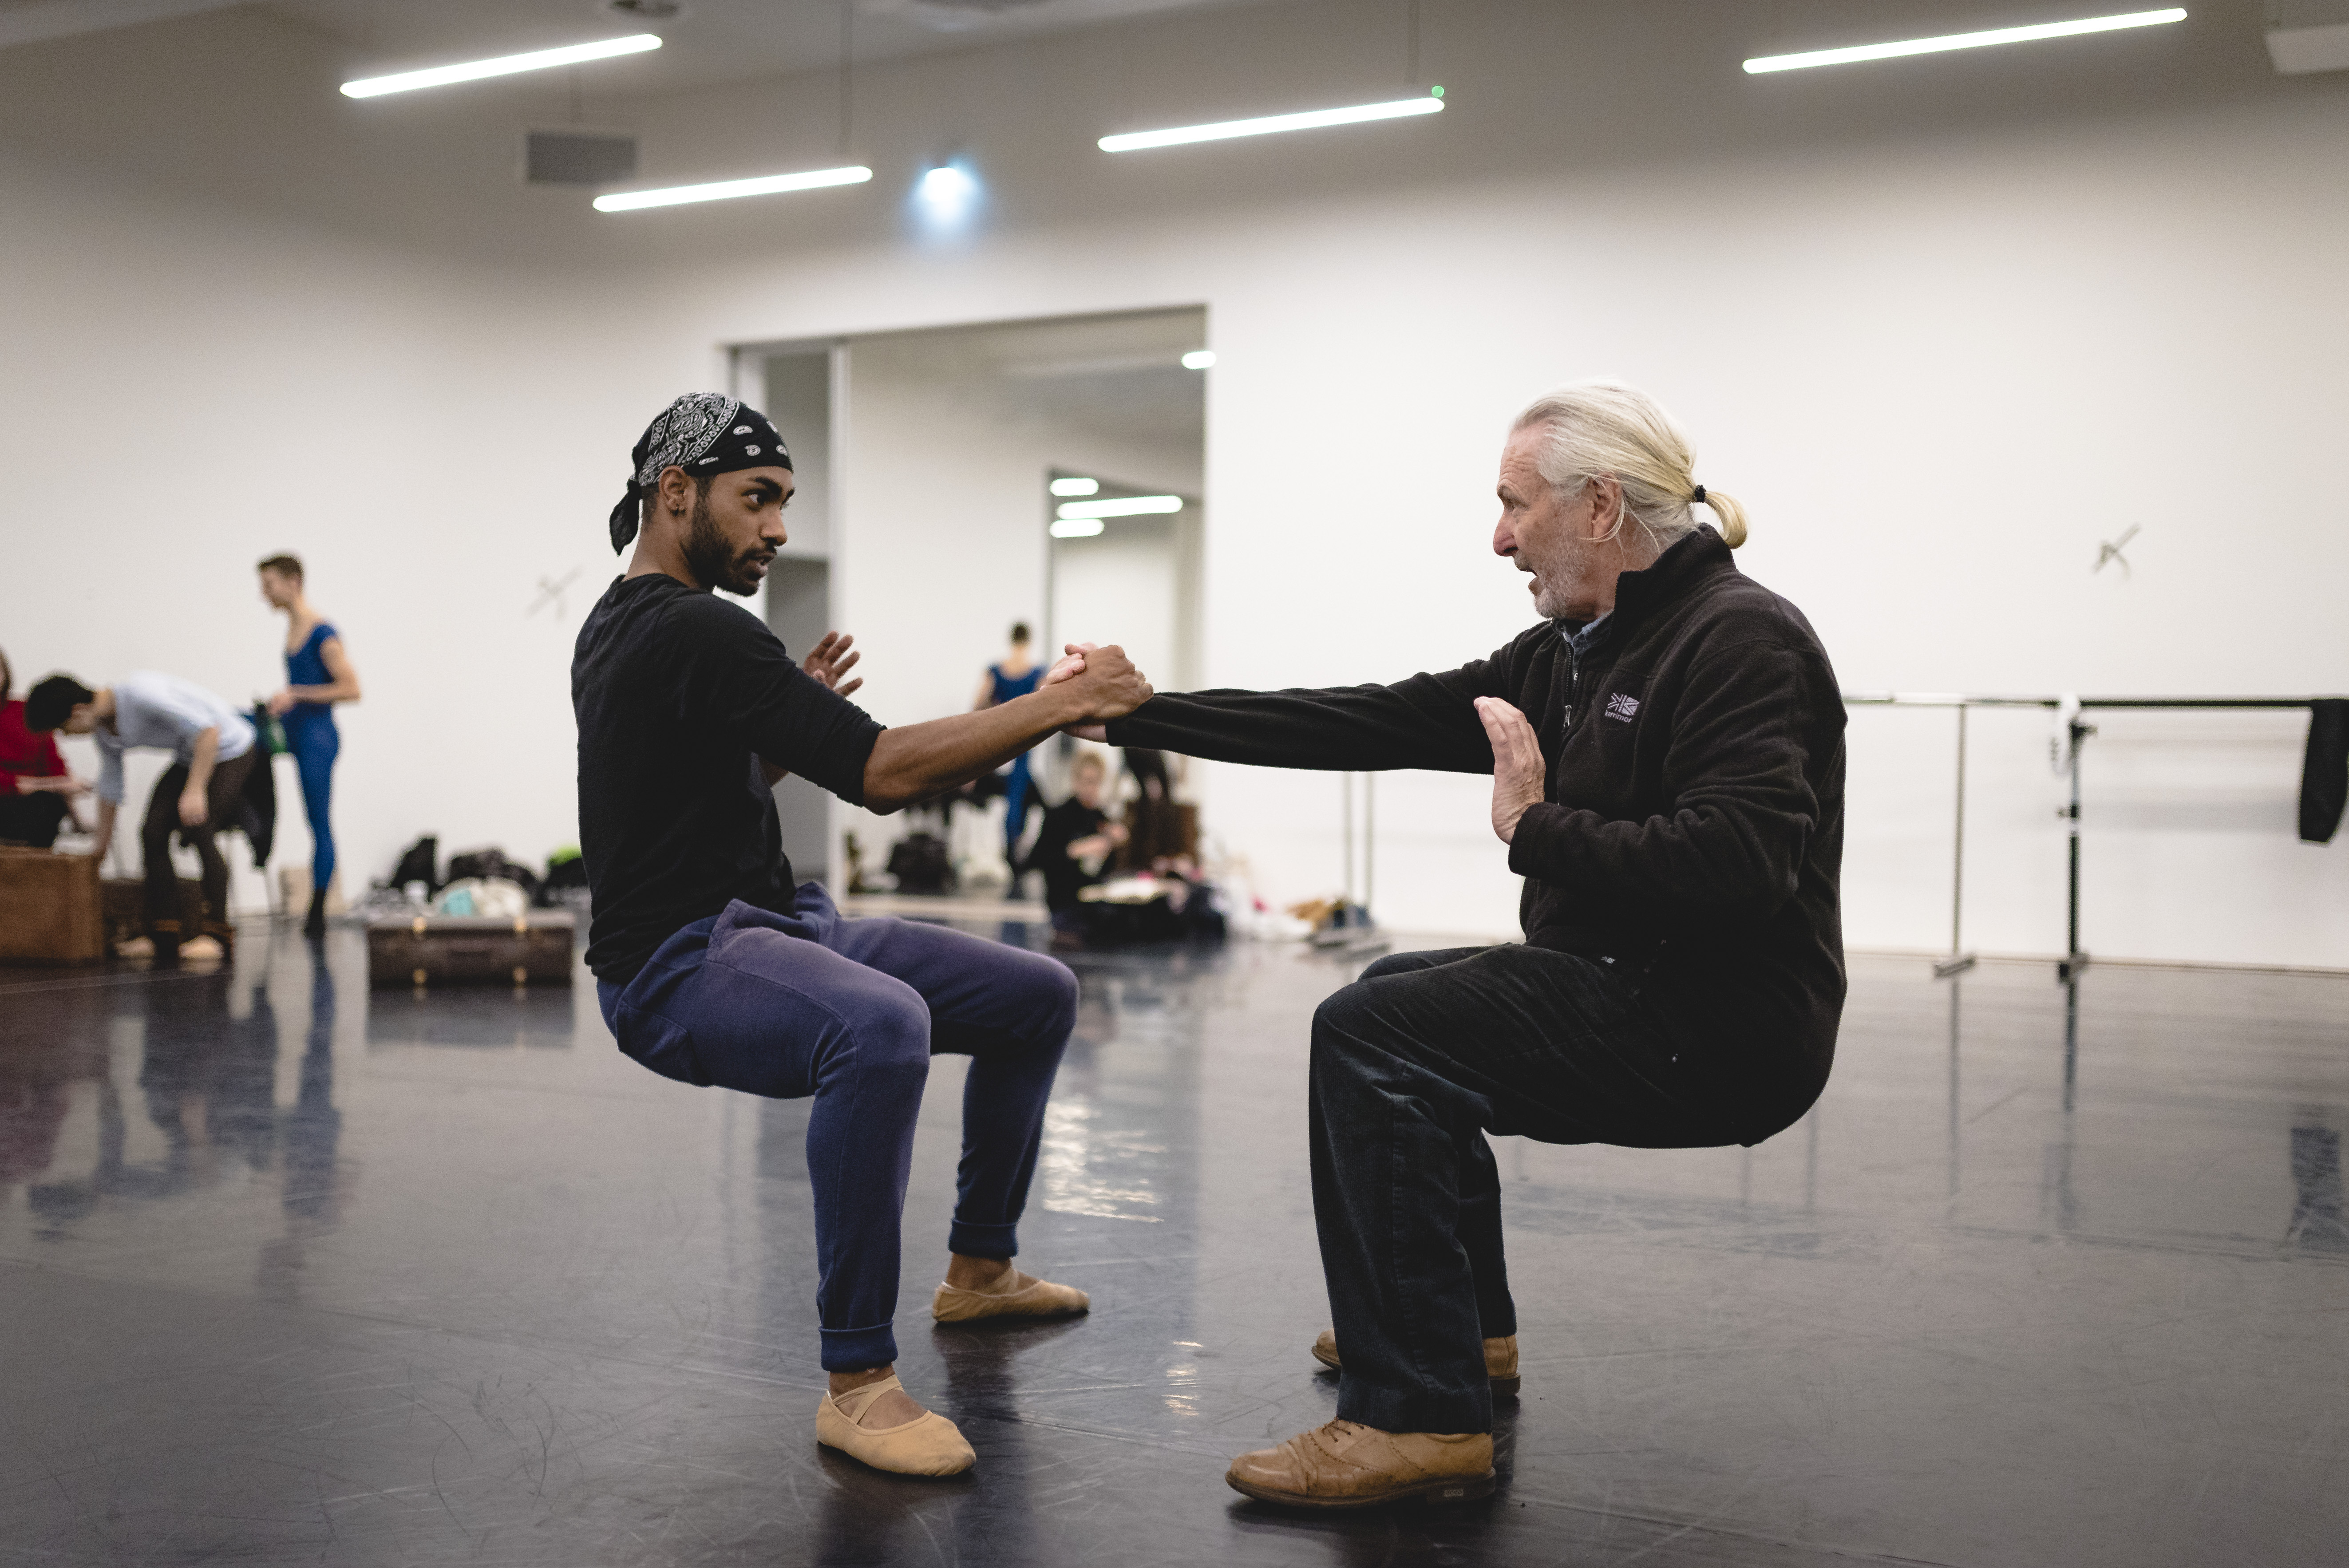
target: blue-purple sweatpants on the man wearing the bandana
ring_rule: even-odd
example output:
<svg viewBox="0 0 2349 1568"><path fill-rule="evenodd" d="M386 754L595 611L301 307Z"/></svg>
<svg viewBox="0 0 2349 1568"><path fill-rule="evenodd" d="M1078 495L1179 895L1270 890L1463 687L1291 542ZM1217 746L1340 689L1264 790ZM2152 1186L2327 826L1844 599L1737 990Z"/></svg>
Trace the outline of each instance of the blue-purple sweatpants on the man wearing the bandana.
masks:
<svg viewBox="0 0 2349 1568"><path fill-rule="evenodd" d="M688 1084L813 1094L815 1310L824 1371L897 1359L900 1221L933 1052L970 1056L947 1246L1019 1251L1043 1106L1076 1023L1066 965L942 925L848 920L820 883L794 913L740 899L597 986L620 1049Z"/></svg>

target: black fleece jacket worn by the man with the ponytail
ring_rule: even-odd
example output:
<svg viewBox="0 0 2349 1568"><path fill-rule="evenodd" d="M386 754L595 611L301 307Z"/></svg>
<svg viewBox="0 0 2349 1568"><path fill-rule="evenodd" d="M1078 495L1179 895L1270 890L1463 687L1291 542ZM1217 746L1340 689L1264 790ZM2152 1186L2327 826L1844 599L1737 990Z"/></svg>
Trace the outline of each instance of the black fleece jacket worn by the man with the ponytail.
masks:
<svg viewBox="0 0 2349 1568"><path fill-rule="evenodd" d="M1160 695L1109 742L1266 768L1492 772L1478 697L1525 711L1550 768L1508 845L1525 939L1644 974L1642 1002L1738 1070L1762 1120L1799 1115L1844 1009L1844 702L1811 622L1710 528L1616 580L1581 662L1564 627L1541 622L1395 685Z"/></svg>

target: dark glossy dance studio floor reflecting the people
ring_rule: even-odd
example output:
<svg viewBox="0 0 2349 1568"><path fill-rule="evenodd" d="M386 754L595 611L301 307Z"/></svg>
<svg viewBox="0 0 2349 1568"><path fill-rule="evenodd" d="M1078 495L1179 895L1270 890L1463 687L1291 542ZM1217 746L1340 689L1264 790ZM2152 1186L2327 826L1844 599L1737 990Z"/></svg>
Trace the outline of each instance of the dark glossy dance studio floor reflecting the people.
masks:
<svg viewBox="0 0 2349 1568"><path fill-rule="evenodd" d="M1022 927L1022 934L1024 927ZM1501 1141L1501 1491L1285 1516L1327 1420L1301 948L1078 958L1024 1263L937 1331L961 1063L897 1314L965 1481L815 1446L803 1103L630 1066L592 991L0 972L0 1563L2342 1563L2349 979L1853 962L1755 1150Z"/></svg>

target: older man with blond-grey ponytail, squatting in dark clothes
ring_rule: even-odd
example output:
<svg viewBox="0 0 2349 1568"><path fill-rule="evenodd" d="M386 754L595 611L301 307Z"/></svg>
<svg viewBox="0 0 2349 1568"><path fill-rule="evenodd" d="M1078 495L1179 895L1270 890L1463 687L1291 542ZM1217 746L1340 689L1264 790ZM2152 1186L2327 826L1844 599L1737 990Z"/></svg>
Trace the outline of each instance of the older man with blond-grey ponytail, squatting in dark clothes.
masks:
<svg viewBox="0 0 2349 1568"><path fill-rule="evenodd" d="M1517 1390L1487 1131L1759 1143L1828 1082L1844 1007L1844 704L1811 624L1729 552L1644 394L1583 383L1501 451L1494 554L1539 622L1398 685L1191 692L1104 730L1266 768L1492 775L1525 941L1393 953L1313 1014L1313 1221L1339 1418L1243 1453L1299 1507L1480 1498ZM1708 505L1719 533L1691 507Z"/></svg>

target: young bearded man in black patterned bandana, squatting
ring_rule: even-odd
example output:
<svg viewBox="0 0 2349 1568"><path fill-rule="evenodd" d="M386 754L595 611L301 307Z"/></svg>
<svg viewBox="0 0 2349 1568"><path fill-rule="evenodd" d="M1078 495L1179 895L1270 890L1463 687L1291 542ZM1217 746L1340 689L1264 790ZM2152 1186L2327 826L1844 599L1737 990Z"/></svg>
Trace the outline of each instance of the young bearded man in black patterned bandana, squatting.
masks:
<svg viewBox="0 0 2349 1568"><path fill-rule="evenodd" d="M820 883L794 885L773 784L796 772L893 812L1071 723L1130 714L1151 688L1102 648L1015 702L883 730L848 702L862 685L846 678L850 638L827 634L794 664L759 617L712 592L756 592L787 538L792 455L766 415L688 394L632 455L611 542L637 549L571 664L597 1000L620 1049L655 1073L815 1096L815 1300L832 1376L817 1441L879 1469L956 1474L975 1462L970 1444L890 1373L914 1117L930 1054L970 1056L933 1314L1083 1312L1083 1291L1010 1263L1076 976L937 925L843 918Z"/></svg>

